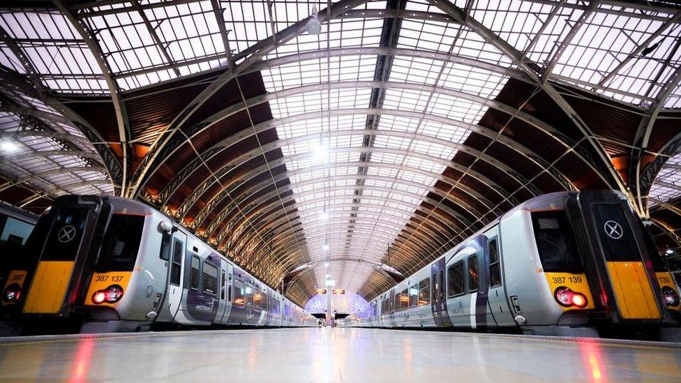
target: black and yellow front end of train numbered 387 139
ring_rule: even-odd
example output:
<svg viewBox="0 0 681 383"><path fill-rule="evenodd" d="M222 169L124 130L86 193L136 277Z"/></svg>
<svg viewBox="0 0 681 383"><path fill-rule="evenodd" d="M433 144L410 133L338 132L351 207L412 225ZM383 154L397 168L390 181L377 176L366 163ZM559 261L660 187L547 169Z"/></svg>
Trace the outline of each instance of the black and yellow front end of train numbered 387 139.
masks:
<svg viewBox="0 0 681 383"><path fill-rule="evenodd" d="M624 195L546 195L525 210L543 276L539 322L589 327L601 336L640 332L680 340L678 286Z"/></svg>

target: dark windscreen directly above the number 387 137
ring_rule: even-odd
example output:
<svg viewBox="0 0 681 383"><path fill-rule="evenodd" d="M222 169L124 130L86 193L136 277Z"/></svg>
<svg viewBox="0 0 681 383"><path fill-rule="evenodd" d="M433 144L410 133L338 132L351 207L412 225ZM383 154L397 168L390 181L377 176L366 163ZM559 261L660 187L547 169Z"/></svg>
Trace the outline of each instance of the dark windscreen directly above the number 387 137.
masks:
<svg viewBox="0 0 681 383"><path fill-rule="evenodd" d="M114 214L102 241L97 271L133 271L143 227L144 216Z"/></svg>

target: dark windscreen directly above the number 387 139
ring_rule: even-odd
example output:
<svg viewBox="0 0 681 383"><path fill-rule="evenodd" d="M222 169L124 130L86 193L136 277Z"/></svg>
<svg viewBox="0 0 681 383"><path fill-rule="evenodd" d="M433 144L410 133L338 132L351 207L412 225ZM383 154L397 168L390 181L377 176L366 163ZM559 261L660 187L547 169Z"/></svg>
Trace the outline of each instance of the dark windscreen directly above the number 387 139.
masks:
<svg viewBox="0 0 681 383"><path fill-rule="evenodd" d="M532 226L544 271L583 271L572 230L563 211L532 213Z"/></svg>

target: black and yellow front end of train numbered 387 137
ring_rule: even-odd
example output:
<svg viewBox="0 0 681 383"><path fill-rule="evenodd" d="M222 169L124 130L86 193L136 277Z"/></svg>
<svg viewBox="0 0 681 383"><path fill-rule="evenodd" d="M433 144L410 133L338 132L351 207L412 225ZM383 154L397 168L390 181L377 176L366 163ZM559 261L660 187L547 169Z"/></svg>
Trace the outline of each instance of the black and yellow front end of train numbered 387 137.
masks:
<svg viewBox="0 0 681 383"><path fill-rule="evenodd" d="M27 326L120 322L135 304L133 271L146 215L137 204L105 196L57 198L8 275L3 310Z"/></svg>

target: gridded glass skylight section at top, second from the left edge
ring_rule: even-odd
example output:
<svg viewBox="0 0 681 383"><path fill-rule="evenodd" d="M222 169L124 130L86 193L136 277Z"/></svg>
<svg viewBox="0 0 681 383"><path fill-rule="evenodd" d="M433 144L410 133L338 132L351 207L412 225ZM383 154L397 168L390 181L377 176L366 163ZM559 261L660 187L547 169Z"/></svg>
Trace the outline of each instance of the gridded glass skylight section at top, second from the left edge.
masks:
<svg viewBox="0 0 681 383"><path fill-rule="evenodd" d="M110 7L96 7L85 19L97 34L121 88L133 89L223 64L225 47L211 1L146 5L140 2L141 9L133 6L104 15L98 11Z"/></svg>

